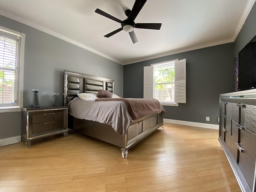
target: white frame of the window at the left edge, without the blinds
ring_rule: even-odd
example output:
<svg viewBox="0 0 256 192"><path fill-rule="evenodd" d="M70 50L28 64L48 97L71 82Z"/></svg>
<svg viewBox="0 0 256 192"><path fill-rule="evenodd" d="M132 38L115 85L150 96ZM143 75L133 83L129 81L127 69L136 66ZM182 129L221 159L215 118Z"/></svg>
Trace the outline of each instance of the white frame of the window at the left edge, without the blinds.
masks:
<svg viewBox="0 0 256 192"><path fill-rule="evenodd" d="M0 26L0 30L9 34L18 36L18 49L17 49L17 69L16 69L16 104L11 107L0 107L0 113L5 112L19 112L23 107L23 84L24 84L24 49L26 34L16 32L14 30Z"/></svg>

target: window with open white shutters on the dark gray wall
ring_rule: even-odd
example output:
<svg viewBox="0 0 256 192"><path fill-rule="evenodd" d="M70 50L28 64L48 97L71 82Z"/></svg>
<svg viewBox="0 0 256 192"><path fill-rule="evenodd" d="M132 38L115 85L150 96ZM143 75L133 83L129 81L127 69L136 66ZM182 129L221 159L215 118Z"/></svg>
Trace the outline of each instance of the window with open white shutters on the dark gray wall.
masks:
<svg viewBox="0 0 256 192"><path fill-rule="evenodd" d="M186 59L144 67L144 98L166 105L186 103Z"/></svg>

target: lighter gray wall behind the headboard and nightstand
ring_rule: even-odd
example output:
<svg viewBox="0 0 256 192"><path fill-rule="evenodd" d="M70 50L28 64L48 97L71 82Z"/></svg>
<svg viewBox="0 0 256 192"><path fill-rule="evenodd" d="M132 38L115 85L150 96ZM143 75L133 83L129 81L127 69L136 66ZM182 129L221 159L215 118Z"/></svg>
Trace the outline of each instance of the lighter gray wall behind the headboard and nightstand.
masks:
<svg viewBox="0 0 256 192"><path fill-rule="evenodd" d="M53 93L63 100L64 70L115 80L114 92L123 95L122 65L4 16L0 25L26 34L24 106L31 105L33 88L39 89L41 106L53 104ZM0 113L0 139L21 134L20 118L20 112Z"/></svg>

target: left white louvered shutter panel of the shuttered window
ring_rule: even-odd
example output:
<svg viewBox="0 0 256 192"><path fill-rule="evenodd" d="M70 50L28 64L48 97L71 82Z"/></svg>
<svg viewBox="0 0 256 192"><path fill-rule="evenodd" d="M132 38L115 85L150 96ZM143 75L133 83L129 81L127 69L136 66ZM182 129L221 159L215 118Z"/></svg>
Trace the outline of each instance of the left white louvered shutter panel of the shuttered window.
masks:
<svg viewBox="0 0 256 192"><path fill-rule="evenodd" d="M143 98L146 98L146 99L153 98L153 86L154 86L153 75L154 75L153 66L144 67Z"/></svg>

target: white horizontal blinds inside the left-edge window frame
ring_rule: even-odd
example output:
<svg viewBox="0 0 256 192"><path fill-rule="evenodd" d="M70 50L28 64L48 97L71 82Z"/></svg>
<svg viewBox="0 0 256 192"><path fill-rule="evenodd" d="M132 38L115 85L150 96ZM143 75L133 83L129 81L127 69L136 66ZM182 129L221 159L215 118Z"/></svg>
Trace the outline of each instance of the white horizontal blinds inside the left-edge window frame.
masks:
<svg viewBox="0 0 256 192"><path fill-rule="evenodd" d="M0 30L0 107L16 106L18 36Z"/></svg>

